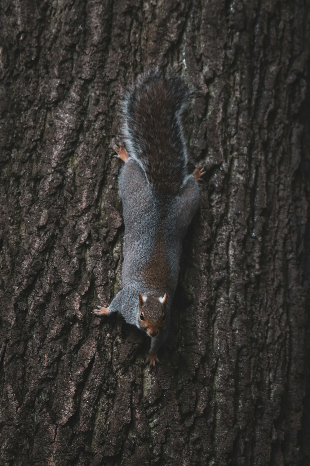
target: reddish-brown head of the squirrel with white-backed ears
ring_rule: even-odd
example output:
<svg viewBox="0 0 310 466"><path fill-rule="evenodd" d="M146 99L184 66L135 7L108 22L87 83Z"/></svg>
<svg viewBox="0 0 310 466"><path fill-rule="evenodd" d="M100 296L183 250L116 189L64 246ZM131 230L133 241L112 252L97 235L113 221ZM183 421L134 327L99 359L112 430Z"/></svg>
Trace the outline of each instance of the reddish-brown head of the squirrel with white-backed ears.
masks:
<svg viewBox="0 0 310 466"><path fill-rule="evenodd" d="M166 294L158 297L139 293L139 327L149 336L157 336L160 327L165 324L166 301Z"/></svg>

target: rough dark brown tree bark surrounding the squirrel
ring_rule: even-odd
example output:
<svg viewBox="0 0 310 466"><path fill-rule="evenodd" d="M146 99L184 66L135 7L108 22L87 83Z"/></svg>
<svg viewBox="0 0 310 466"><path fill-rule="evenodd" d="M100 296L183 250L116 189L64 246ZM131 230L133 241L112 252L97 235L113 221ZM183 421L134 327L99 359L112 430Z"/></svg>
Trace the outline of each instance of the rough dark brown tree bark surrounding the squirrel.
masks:
<svg viewBox="0 0 310 466"><path fill-rule="evenodd" d="M309 2L0 3L0 464L307 465ZM158 373L121 316L121 99L195 87L200 210ZM307 382L308 380L308 382Z"/></svg>

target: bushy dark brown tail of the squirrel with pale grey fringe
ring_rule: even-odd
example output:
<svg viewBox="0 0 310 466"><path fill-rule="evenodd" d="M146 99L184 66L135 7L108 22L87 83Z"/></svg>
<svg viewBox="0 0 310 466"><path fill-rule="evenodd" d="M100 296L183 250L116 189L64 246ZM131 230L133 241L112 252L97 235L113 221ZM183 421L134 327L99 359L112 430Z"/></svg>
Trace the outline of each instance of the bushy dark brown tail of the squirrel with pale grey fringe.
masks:
<svg viewBox="0 0 310 466"><path fill-rule="evenodd" d="M125 144L153 189L177 194L188 160L181 114L191 91L177 75L165 78L158 69L140 75L124 102Z"/></svg>

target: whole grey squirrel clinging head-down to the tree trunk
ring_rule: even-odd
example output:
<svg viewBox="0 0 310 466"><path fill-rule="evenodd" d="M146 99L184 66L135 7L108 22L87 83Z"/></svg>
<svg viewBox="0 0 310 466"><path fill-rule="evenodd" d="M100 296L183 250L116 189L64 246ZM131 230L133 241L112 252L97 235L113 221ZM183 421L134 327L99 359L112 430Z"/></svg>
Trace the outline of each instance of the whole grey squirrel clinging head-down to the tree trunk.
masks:
<svg viewBox="0 0 310 466"><path fill-rule="evenodd" d="M158 69L140 75L123 102L124 142L112 142L124 163L119 174L125 236L122 286L109 307L94 315L119 311L125 321L151 337L145 363L156 369L165 342L175 293L182 242L198 208L199 165L187 171L188 152L181 114L191 91L177 75Z"/></svg>

